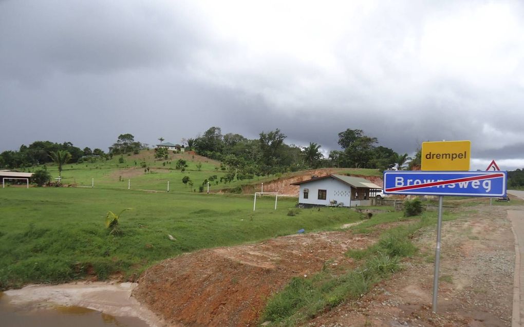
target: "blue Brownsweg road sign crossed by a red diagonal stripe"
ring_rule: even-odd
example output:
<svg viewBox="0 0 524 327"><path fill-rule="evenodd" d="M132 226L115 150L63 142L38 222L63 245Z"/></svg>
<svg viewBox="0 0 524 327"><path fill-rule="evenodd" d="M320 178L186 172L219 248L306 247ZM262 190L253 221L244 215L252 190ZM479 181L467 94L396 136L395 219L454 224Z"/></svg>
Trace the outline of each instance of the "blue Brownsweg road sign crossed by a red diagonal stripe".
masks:
<svg viewBox="0 0 524 327"><path fill-rule="evenodd" d="M386 171L384 193L505 197L507 172Z"/></svg>

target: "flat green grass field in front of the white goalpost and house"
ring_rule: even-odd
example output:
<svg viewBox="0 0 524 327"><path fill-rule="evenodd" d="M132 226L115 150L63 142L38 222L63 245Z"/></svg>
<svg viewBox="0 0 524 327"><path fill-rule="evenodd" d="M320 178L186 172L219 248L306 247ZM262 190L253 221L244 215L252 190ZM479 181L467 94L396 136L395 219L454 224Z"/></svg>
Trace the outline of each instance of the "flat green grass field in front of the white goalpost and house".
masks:
<svg viewBox="0 0 524 327"><path fill-rule="evenodd" d="M0 189L0 289L96 275L137 276L168 257L279 235L338 229L359 215L341 208L300 210L296 199L109 188ZM125 211L113 236L108 210ZM174 240L170 240L172 235Z"/></svg>

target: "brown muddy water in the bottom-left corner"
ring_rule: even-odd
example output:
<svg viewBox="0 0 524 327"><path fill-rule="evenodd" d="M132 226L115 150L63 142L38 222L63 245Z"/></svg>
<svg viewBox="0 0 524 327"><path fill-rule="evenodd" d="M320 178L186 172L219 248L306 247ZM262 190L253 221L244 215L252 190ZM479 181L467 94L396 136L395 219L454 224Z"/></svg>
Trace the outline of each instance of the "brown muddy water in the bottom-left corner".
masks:
<svg viewBox="0 0 524 327"><path fill-rule="evenodd" d="M81 307L13 306L0 292L0 326L2 327L148 327L138 319L113 317Z"/></svg>

